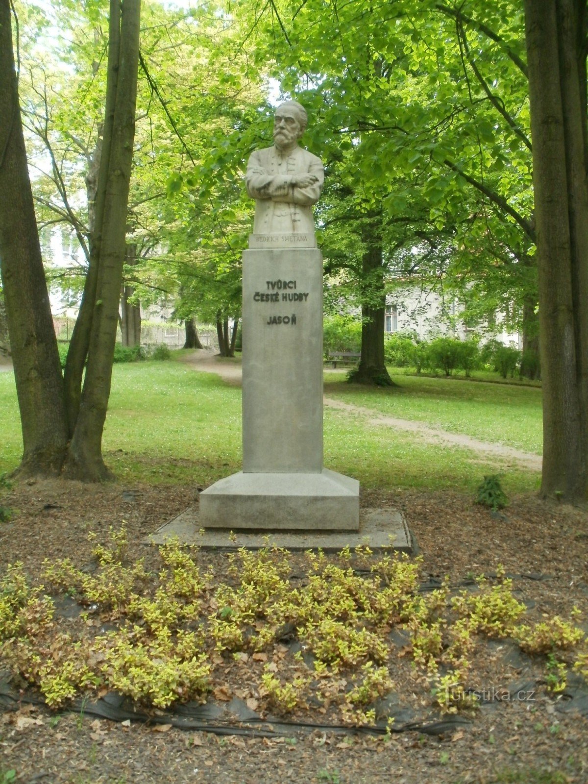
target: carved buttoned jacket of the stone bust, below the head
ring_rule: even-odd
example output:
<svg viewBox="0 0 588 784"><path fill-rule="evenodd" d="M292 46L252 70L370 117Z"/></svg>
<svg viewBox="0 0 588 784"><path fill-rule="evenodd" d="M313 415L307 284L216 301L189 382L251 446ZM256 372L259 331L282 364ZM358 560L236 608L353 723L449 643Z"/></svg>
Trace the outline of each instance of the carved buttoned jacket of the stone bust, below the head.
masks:
<svg viewBox="0 0 588 784"><path fill-rule="evenodd" d="M317 182L309 187L292 185L293 174L309 173ZM321 158L295 147L281 155L276 147L256 150L249 158L245 185L256 199L253 234L310 234L314 237L312 205L325 181Z"/></svg>

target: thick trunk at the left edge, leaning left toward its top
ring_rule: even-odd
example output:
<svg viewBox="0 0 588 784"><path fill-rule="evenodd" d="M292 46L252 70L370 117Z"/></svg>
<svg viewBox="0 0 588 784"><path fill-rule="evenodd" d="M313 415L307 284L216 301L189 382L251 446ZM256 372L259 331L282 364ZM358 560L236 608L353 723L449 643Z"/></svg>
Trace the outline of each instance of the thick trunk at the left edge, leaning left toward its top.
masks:
<svg viewBox="0 0 588 784"><path fill-rule="evenodd" d="M67 448L60 358L49 307L27 169L9 0L0 0L0 273L24 474L58 474Z"/></svg>

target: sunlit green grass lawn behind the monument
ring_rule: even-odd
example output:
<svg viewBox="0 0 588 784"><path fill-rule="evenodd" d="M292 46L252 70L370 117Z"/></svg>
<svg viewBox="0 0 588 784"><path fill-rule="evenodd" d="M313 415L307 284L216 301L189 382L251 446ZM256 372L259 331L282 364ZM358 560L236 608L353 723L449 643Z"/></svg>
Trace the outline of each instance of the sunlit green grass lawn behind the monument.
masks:
<svg viewBox="0 0 588 784"><path fill-rule="evenodd" d="M398 387L365 389L325 373L325 395L383 416L412 419L528 452L541 450L537 387L395 377ZM12 373L0 374L0 474L22 449ZM118 481L195 482L205 487L241 468L241 389L178 362L114 365L103 436ZM472 492L500 474L506 492L539 487L539 473L513 469L466 448L427 443L419 434L325 407L325 465L368 488L454 488Z"/></svg>

